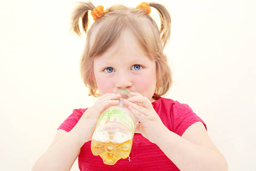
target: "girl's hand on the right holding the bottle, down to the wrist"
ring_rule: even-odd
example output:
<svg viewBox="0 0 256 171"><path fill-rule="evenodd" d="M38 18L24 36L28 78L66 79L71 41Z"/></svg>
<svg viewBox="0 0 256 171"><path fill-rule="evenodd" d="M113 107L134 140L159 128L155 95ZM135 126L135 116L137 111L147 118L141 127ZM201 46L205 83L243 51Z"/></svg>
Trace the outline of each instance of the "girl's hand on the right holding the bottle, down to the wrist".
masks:
<svg viewBox="0 0 256 171"><path fill-rule="evenodd" d="M161 133L164 132L163 130L166 129L166 126L164 126L147 97L133 92L130 95L132 97L124 100L123 104L140 121L136 126L136 132L141 133L149 141L155 143Z"/></svg>

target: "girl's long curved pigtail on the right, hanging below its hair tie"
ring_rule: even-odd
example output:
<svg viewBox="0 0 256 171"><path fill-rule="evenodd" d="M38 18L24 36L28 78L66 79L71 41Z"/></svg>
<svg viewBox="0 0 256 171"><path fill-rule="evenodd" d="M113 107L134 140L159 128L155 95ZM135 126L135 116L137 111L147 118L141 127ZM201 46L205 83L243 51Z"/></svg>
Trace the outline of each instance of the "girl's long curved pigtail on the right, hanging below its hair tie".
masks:
<svg viewBox="0 0 256 171"><path fill-rule="evenodd" d="M151 7L156 8L160 15L161 20L161 28L160 28L160 35L161 35L161 43L163 44L163 48L168 43L171 34L171 17L168 10L159 3L149 3Z"/></svg>

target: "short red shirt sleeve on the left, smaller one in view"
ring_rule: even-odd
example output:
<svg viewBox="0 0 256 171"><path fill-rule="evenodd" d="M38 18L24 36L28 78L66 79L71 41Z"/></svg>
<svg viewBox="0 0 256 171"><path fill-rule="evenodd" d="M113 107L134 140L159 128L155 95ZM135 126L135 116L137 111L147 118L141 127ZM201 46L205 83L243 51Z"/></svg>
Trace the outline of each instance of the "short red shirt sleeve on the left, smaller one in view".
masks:
<svg viewBox="0 0 256 171"><path fill-rule="evenodd" d="M77 122L86 110L87 108L74 109L73 113L69 115L69 117L63 123L61 123L58 129L62 129L67 132L71 131L74 128L74 126L77 125Z"/></svg>

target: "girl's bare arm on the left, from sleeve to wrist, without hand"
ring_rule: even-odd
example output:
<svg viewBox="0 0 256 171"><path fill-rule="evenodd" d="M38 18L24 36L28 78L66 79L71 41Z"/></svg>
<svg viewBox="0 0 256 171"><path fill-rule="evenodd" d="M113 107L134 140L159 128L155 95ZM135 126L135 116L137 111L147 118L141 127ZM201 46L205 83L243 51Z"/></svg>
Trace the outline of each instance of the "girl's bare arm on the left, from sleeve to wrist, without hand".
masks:
<svg viewBox="0 0 256 171"><path fill-rule="evenodd" d="M59 129L49 149L36 161L32 171L69 171L80 153L75 131Z"/></svg>

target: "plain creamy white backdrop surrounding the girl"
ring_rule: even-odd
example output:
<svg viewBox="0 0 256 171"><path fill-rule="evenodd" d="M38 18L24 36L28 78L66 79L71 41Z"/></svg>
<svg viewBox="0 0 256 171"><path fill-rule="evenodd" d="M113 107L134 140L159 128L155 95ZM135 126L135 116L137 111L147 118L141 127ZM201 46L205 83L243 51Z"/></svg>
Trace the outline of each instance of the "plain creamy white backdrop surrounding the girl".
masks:
<svg viewBox="0 0 256 171"><path fill-rule="evenodd" d="M94 104L79 73L86 35L79 38L69 32L75 2L0 3L2 171L31 170L72 110ZM172 18L171 38L164 53L175 83L165 97L188 104L205 121L230 171L254 171L255 1L157 2L166 6ZM92 3L105 8L116 3L136 7L140 1ZM151 10L159 24L158 13ZM72 171L77 170L76 161Z"/></svg>

